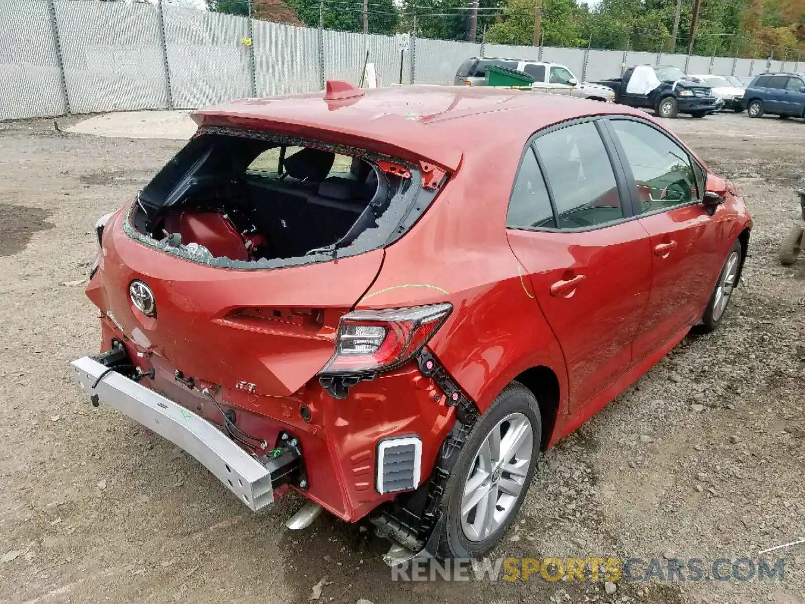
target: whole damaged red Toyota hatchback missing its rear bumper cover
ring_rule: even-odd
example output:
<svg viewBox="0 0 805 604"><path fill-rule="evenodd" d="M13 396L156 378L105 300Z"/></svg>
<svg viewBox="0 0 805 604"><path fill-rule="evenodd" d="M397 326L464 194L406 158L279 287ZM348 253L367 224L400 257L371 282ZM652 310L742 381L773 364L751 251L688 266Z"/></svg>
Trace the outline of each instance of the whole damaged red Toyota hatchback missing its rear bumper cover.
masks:
<svg viewBox="0 0 805 604"><path fill-rule="evenodd" d="M101 401L254 511L293 489L480 556L539 451L725 316L751 218L622 105L464 87L233 101L97 225ZM114 446L111 443L109 446Z"/></svg>

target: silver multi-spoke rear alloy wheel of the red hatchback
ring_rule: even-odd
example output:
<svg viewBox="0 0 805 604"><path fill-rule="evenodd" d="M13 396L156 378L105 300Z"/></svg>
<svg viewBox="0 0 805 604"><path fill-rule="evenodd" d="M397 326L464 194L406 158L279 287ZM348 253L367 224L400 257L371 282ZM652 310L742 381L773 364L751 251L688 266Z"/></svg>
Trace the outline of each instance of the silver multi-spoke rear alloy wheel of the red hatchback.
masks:
<svg viewBox="0 0 805 604"><path fill-rule="evenodd" d="M492 535L509 518L531 465L534 429L511 413L486 435L475 453L461 496L461 528L470 541Z"/></svg>

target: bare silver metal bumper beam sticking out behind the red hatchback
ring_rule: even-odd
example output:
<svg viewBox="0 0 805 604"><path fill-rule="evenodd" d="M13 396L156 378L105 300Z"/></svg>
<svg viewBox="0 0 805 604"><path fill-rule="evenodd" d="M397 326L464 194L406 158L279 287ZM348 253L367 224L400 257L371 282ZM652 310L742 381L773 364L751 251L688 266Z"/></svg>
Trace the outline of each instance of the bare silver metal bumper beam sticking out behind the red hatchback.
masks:
<svg viewBox="0 0 805 604"><path fill-rule="evenodd" d="M259 511L274 501L270 468L214 424L114 371L103 376L93 393L93 384L108 367L90 357L78 358L71 365L88 395L97 395L110 407L190 453L251 510Z"/></svg>

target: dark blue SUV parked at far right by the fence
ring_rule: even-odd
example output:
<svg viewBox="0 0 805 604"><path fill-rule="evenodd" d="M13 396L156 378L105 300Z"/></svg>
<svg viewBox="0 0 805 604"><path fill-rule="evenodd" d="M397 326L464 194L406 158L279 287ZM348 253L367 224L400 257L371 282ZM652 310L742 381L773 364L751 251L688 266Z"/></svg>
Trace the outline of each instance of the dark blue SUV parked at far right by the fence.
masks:
<svg viewBox="0 0 805 604"><path fill-rule="evenodd" d="M743 104L750 118L761 118L763 114L805 118L805 76L764 73L746 87Z"/></svg>

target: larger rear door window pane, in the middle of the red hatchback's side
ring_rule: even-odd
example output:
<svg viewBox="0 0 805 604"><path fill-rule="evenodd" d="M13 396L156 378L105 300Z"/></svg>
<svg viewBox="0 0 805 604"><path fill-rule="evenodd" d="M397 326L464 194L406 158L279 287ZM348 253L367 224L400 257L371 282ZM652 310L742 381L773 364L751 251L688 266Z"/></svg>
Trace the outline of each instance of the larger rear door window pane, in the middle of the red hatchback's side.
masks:
<svg viewBox="0 0 805 604"><path fill-rule="evenodd" d="M548 132L535 147L551 186L560 229L583 229L623 217L612 163L593 122Z"/></svg>

